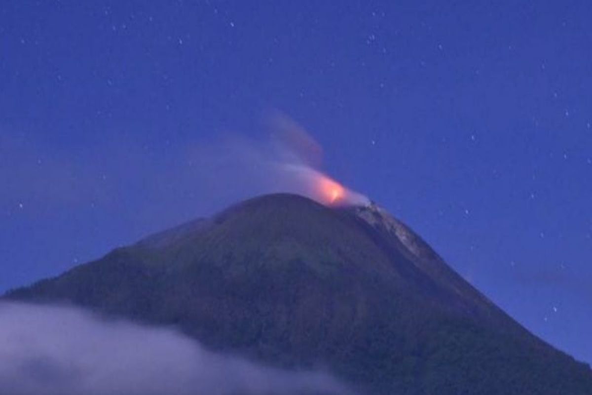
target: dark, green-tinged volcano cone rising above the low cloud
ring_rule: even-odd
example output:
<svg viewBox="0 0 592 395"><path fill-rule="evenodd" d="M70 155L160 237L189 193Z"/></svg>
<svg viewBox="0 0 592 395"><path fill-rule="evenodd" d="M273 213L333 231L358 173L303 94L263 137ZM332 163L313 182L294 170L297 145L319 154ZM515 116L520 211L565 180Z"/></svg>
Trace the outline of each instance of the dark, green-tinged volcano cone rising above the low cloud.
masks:
<svg viewBox="0 0 592 395"><path fill-rule="evenodd" d="M374 204L253 198L5 297L178 326L214 350L322 365L366 394L592 394L588 365Z"/></svg>

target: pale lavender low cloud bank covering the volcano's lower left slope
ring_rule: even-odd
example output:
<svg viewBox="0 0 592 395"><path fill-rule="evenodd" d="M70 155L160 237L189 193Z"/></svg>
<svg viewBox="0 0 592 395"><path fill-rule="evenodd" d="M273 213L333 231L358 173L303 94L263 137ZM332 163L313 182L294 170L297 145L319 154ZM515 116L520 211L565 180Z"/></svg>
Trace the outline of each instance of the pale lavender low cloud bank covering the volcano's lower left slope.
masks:
<svg viewBox="0 0 592 395"><path fill-rule="evenodd" d="M346 394L324 372L217 354L171 329L0 302L0 394Z"/></svg>

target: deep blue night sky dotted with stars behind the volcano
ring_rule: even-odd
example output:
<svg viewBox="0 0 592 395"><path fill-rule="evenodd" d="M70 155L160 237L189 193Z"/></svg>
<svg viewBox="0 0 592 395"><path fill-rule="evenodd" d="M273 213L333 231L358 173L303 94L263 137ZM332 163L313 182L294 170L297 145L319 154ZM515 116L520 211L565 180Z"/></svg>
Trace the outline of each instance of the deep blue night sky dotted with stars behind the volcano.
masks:
<svg viewBox="0 0 592 395"><path fill-rule="evenodd" d="M0 292L273 190L242 170L278 109L324 171L590 363L591 15L589 1L3 1Z"/></svg>

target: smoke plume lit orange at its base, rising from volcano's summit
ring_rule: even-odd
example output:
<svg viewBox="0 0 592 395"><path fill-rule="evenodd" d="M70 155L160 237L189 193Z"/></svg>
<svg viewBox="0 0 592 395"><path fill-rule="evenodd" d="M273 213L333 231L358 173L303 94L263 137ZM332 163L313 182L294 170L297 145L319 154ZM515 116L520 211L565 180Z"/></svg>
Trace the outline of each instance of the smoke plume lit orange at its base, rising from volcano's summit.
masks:
<svg viewBox="0 0 592 395"><path fill-rule="evenodd" d="M325 205L369 204L367 197L321 171L323 149L307 131L281 113L269 115L267 121L268 139L227 139L211 149L222 155L210 163L211 155L195 156L204 168L214 165L214 177L220 183L230 181L231 189L243 185L252 194L293 192Z"/></svg>

